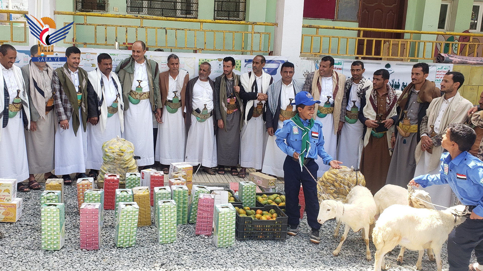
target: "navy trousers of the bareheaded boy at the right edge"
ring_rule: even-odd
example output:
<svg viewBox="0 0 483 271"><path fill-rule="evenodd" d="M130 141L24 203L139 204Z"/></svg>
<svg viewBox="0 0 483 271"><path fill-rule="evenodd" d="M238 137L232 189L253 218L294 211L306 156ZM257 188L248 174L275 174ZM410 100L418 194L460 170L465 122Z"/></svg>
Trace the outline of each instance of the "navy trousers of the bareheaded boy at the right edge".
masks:
<svg viewBox="0 0 483 271"><path fill-rule="evenodd" d="M449 271L468 271L471 252L483 264L483 219L469 219L456 227L448 237Z"/></svg>

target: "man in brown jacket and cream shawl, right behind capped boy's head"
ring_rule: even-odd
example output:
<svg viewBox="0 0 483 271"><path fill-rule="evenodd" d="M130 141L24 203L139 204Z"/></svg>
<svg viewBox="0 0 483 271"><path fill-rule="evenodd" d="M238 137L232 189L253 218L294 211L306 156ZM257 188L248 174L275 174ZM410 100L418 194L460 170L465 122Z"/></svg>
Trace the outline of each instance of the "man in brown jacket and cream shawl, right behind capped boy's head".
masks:
<svg viewBox="0 0 483 271"><path fill-rule="evenodd" d="M344 84L345 75L334 70L334 58L327 55L320 61L319 69L307 75L303 87L304 91L311 93L315 100L320 101L315 120L323 124L324 149L332 157L336 157L337 133L340 133L345 121L347 100ZM345 161L339 158L337 160L345 165ZM319 165L317 171L319 177L330 168L320 158L315 162Z"/></svg>

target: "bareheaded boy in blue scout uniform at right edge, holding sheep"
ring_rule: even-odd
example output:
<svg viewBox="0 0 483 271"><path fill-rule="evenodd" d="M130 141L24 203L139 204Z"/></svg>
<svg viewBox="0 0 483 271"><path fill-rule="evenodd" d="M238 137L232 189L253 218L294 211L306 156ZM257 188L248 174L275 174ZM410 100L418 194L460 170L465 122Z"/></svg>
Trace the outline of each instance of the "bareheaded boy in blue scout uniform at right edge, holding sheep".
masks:
<svg viewBox="0 0 483 271"><path fill-rule="evenodd" d="M441 155L440 174L417 176L409 182L423 188L449 184L471 212L470 219L449 235L449 271L483 271L483 162L468 152L475 139L473 129L462 123L451 123L441 141L448 152ZM473 249L478 263L468 266Z"/></svg>

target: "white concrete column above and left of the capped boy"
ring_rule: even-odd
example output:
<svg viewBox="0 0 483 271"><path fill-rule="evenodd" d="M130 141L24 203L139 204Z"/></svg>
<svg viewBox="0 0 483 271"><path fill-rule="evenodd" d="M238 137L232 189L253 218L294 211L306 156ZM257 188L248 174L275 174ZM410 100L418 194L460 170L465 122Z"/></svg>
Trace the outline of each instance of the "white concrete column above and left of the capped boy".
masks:
<svg viewBox="0 0 483 271"><path fill-rule="evenodd" d="M288 56L298 66L302 40L303 0L278 0L273 55ZM296 67L297 70L297 67Z"/></svg>

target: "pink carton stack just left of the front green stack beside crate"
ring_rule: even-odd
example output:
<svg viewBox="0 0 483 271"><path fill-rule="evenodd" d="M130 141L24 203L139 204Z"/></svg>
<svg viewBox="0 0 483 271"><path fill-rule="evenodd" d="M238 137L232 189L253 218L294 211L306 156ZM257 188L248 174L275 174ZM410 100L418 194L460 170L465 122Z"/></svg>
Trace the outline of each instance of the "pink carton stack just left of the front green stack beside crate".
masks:
<svg viewBox="0 0 483 271"><path fill-rule="evenodd" d="M212 234L214 197L213 194L199 194L195 234Z"/></svg>

